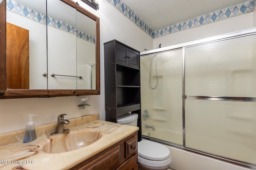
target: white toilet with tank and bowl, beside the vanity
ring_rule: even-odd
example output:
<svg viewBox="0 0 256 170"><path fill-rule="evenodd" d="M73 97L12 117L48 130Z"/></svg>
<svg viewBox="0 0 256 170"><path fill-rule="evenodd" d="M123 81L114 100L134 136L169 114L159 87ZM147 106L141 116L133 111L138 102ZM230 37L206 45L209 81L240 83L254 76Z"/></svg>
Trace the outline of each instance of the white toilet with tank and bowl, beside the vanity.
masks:
<svg viewBox="0 0 256 170"><path fill-rule="evenodd" d="M117 123L137 126L138 114L127 113L117 117ZM172 157L170 150L156 142L142 140L138 142L139 170L167 170Z"/></svg>

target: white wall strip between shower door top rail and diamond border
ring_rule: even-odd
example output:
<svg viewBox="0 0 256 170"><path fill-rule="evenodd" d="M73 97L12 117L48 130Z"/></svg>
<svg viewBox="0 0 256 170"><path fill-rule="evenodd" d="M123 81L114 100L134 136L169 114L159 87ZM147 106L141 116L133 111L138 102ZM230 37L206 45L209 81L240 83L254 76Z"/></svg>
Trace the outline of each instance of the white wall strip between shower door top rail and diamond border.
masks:
<svg viewBox="0 0 256 170"><path fill-rule="evenodd" d="M154 49L256 27L256 11L154 39Z"/></svg>

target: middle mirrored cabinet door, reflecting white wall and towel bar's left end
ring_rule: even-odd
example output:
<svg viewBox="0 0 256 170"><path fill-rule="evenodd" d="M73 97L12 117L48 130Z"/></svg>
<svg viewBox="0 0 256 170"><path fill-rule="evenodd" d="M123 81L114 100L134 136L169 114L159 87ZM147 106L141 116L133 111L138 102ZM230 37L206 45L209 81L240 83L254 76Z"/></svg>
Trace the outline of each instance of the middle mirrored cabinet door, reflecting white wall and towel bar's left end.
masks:
<svg viewBox="0 0 256 170"><path fill-rule="evenodd" d="M76 89L76 8L48 0L47 19L48 89Z"/></svg>

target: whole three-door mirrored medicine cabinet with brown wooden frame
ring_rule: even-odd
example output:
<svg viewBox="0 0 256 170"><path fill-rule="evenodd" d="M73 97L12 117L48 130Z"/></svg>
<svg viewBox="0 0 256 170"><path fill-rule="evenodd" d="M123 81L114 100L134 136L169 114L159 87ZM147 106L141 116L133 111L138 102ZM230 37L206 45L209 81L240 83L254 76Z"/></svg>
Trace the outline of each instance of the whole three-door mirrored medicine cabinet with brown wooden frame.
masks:
<svg viewBox="0 0 256 170"><path fill-rule="evenodd" d="M4 0L0 8L0 98L100 94L99 18L71 0Z"/></svg>

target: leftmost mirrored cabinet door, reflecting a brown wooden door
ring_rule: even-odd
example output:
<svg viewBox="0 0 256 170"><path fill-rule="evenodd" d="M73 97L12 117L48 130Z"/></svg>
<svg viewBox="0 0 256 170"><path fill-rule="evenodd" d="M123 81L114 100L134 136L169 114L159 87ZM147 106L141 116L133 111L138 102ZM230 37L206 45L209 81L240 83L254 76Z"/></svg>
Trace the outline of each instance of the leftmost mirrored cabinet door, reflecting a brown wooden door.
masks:
<svg viewBox="0 0 256 170"><path fill-rule="evenodd" d="M46 0L8 0L7 89L47 89L46 35Z"/></svg>

